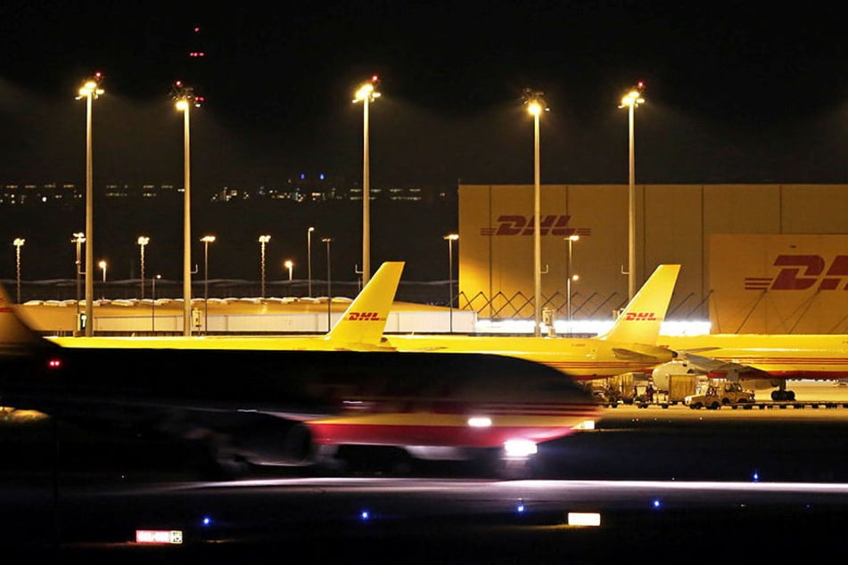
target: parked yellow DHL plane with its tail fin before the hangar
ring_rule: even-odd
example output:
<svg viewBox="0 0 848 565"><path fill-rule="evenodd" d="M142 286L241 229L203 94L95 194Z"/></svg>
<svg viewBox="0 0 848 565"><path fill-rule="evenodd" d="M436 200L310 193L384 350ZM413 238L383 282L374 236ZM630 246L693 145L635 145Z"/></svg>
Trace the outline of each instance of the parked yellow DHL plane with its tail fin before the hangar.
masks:
<svg viewBox="0 0 848 565"><path fill-rule="evenodd" d="M657 266L613 327L595 338L499 337L465 335L387 336L399 351L497 353L547 364L578 380L639 373L667 363L674 351L657 337L671 301L679 265Z"/></svg>

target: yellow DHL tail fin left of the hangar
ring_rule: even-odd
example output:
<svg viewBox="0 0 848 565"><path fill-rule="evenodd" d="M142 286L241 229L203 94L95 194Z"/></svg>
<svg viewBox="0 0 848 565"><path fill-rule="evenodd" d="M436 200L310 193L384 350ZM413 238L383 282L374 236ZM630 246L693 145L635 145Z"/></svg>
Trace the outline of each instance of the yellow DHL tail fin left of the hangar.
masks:
<svg viewBox="0 0 848 565"><path fill-rule="evenodd" d="M383 263L324 339L340 348L380 346L404 265L403 261Z"/></svg>

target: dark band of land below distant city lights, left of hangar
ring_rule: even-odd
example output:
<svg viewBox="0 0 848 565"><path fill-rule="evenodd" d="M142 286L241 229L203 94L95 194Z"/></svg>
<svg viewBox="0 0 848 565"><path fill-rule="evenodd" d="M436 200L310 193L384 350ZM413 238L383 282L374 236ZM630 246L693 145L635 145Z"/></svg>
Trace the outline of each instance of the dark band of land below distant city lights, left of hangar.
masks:
<svg viewBox="0 0 848 565"><path fill-rule="evenodd" d="M63 205L0 207L4 218L0 235L8 240L8 252L0 254L0 278L16 279L14 238L25 240L21 247L21 280L73 279L76 244L73 233L84 232L86 207L78 202ZM372 272L383 261L402 260L407 266L404 280L447 280L448 249L443 240L457 232L456 192L447 201L433 203L375 201L371 204ZM165 221L168 217L169 221ZM107 261L107 280L134 279L141 270L140 235L145 246L145 276L161 274L165 279L183 278L182 201L169 205L157 202L98 202L94 209L95 281L100 281L100 259ZM258 281L261 274L259 235L269 234L266 244L268 281L288 278L283 263L294 262L293 278L308 274L309 227L314 278L325 278L326 244L329 237L331 274L335 281L356 282L362 263L362 203L333 201L294 203L285 201L235 201L192 204L192 265L202 279L206 234L216 235L209 244L210 279ZM456 259L456 258L455 258ZM83 262L85 254L83 253Z"/></svg>

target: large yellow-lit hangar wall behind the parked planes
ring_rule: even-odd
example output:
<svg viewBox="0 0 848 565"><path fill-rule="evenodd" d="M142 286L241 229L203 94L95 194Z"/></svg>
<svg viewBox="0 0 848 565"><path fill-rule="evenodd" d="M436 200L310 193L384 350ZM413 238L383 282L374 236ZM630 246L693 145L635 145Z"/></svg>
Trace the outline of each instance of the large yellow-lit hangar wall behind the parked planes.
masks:
<svg viewBox="0 0 848 565"><path fill-rule="evenodd" d="M657 265L682 265L670 319L709 318L714 332L848 332L848 319L838 316L848 313L848 185L635 188L637 288ZM459 307L481 317L532 318L533 185L464 184L458 193ZM628 208L627 184L540 187L543 307L557 317L566 312L567 238L572 234L580 236L571 251L571 274L580 277L571 285L572 316L609 319L626 304ZM725 237L713 238L718 235ZM799 235L815 237L789 237ZM798 254L819 257L821 276L839 278L826 284L841 290L817 292L811 290L815 284L791 291L760 289L782 297L774 303L779 307L771 314L762 305L752 309L745 277L784 276L781 269L790 266L775 261L781 246L792 245ZM794 259L780 259L786 260ZM811 292L816 292L814 299ZM770 304L770 299L759 302Z"/></svg>

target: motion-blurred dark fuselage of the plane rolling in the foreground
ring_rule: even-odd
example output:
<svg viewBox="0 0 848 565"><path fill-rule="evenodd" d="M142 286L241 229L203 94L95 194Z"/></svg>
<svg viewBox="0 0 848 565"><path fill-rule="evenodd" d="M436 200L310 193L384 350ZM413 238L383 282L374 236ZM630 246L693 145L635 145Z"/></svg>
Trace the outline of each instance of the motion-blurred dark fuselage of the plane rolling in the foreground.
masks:
<svg viewBox="0 0 848 565"><path fill-rule="evenodd" d="M600 414L561 373L501 356L57 347L3 362L4 404L193 435L238 433L249 415L250 433L294 422L315 445L497 447Z"/></svg>

